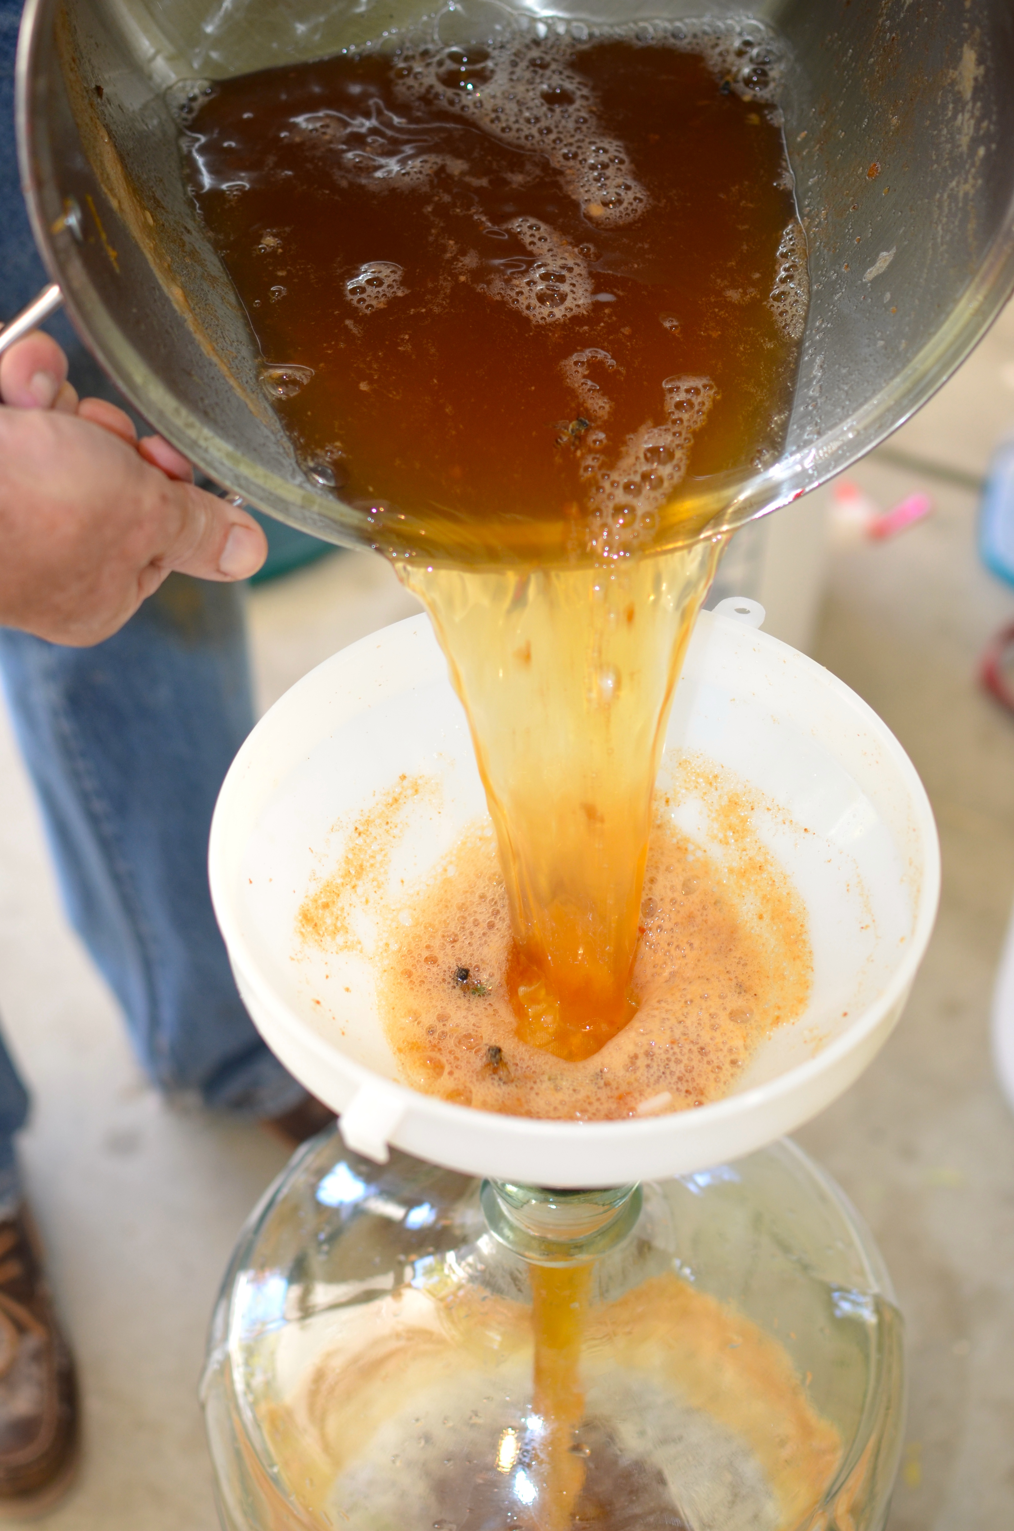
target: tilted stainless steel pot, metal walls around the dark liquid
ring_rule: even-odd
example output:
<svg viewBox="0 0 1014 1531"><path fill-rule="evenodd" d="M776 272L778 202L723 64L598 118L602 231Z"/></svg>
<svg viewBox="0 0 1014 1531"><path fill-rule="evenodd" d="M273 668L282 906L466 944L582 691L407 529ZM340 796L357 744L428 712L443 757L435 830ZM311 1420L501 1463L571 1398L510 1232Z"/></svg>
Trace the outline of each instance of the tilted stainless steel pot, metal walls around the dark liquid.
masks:
<svg viewBox="0 0 1014 1531"><path fill-rule="evenodd" d="M532 18L741 17L726 0L521 0ZM335 52L418 23L426 0L29 0L18 57L23 184L70 317L138 410L250 504L334 542L368 517L314 485L257 380L256 341L184 188L182 81ZM810 311L781 461L698 481L712 527L841 472L963 360L1014 288L1009 0L767 0L792 49L784 100ZM450 40L504 23L455 0ZM49 302L57 302L51 294Z"/></svg>

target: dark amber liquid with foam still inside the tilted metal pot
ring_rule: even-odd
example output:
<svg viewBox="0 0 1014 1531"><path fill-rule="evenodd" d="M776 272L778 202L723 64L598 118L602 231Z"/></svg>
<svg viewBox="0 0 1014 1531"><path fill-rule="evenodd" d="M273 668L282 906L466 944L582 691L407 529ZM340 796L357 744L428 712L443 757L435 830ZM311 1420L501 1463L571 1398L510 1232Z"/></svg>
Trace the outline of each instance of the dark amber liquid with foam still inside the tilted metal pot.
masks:
<svg viewBox="0 0 1014 1531"><path fill-rule="evenodd" d="M708 476L777 458L798 225L781 130L726 73L548 37L201 100L188 179L265 386L377 547L475 565L666 545ZM674 462L683 380L712 393Z"/></svg>

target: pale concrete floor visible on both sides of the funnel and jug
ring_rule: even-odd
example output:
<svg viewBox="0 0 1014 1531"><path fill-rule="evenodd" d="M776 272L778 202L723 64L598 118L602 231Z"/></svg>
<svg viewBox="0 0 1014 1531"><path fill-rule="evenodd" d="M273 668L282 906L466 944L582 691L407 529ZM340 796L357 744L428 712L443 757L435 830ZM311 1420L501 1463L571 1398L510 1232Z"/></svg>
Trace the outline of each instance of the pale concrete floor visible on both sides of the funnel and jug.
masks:
<svg viewBox="0 0 1014 1531"><path fill-rule="evenodd" d="M910 752L944 842L940 919L905 1018L800 1134L873 1226L908 1323L911 1412L890 1531L1014 1523L1014 1116L988 1053L1014 894L1014 718L976 684L1014 591L977 565L976 493L960 482L982 475L1008 429L1014 309L852 475L882 505L927 488L936 513L893 542L832 551L815 646ZM351 554L256 591L260 704L412 609L384 565ZM80 1482L47 1523L214 1531L196 1405L204 1330L283 1154L256 1128L170 1112L138 1076L61 917L3 718L0 801L0 1014L35 1092L23 1157L84 1392Z"/></svg>

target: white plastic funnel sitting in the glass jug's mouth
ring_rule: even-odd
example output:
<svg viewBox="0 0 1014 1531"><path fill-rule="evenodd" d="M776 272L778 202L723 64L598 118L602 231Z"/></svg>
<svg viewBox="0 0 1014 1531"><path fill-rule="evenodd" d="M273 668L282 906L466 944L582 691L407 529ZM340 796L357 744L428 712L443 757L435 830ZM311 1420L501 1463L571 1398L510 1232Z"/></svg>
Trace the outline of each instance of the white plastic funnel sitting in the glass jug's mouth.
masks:
<svg viewBox="0 0 1014 1531"><path fill-rule="evenodd" d="M260 720L211 825L211 896L239 984L268 1046L342 1115L346 1142L388 1145L467 1174L548 1187L665 1179L792 1131L856 1079L898 1021L939 896L933 814L911 761L847 686L747 623L703 612L666 736L786 810L761 834L810 917L813 992L774 1032L737 1092L622 1122L550 1122L452 1105L398 1082L361 957L306 958L296 911L334 825L401 773L440 779L394 876L423 877L484 816L461 704L429 620L414 617L320 664ZM663 764L665 770L665 764ZM806 828L809 833L803 833ZM368 917L368 911L363 911ZM329 974L325 978L325 972Z"/></svg>

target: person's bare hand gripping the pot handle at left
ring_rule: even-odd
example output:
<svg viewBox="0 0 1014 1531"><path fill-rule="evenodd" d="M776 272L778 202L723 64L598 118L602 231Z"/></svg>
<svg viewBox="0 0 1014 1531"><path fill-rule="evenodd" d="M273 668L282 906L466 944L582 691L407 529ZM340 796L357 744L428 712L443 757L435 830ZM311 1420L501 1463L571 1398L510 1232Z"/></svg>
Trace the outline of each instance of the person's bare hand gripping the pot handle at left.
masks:
<svg viewBox="0 0 1014 1531"><path fill-rule="evenodd" d="M0 358L0 625L81 648L116 632L173 570L254 574L268 551L257 522L66 378L63 351L40 332Z"/></svg>

